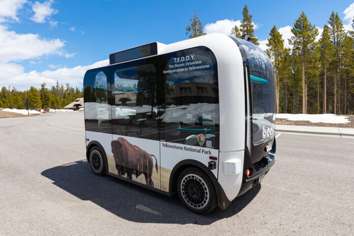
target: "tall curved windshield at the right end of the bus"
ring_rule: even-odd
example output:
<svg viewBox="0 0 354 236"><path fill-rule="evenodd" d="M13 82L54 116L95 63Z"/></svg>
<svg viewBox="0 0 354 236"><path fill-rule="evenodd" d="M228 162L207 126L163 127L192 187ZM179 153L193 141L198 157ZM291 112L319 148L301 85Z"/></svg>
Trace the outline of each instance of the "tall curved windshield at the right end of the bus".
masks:
<svg viewBox="0 0 354 236"><path fill-rule="evenodd" d="M252 140L258 145L274 137L275 82L272 63L265 52L251 42L231 37L248 64L252 99Z"/></svg>

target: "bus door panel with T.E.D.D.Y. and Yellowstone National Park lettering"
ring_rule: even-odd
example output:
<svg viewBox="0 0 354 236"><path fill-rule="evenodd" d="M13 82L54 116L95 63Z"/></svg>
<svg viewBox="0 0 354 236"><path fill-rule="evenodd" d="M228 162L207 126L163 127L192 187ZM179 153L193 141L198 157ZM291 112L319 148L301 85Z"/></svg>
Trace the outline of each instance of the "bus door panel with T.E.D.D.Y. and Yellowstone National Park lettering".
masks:
<svg viewBox="0 0 354 236"><path fill-rule="evenodd" d="M218 175L219 88L213 52L196 47L159 56L164 88L160 118L161 187L169 191L172 169L197 161Z"/></svg>

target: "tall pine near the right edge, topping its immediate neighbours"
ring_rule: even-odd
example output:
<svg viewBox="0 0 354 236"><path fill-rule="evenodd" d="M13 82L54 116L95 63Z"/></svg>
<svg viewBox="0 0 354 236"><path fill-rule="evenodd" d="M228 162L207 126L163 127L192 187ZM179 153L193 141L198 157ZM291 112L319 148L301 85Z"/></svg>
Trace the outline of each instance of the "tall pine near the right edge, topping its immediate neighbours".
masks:
<svg viewBox="0 0 354 236"><path fill-rule="evenodd" d="M329 35L331 36L333 44L333 60L332 65L334 67L334 113L337 114L337 77L338 67L340 63L340 55L343 50L343 41L345 38L344 27L338 13L332 12L329 23Z"/></svg>

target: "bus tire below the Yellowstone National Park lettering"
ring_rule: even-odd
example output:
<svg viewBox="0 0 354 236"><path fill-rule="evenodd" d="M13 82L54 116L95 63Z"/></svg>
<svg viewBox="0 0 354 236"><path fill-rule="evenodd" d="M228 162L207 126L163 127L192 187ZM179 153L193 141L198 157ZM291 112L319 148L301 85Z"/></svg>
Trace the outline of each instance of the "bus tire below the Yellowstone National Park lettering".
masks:
<svg viewBox="0 0 354 236"><path fill-rule="evenodd" d="M177 191L180 200L197 214L206 214L217 206L214 185L206 173L197 168L187 168L178 177Z"/></svg>

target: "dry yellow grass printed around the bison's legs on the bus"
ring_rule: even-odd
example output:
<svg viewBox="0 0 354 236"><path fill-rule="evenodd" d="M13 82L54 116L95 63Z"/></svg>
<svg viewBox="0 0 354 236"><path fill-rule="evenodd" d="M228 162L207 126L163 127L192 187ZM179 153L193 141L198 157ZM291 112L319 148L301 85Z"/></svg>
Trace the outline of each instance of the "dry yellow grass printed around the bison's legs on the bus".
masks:
<svg viewBox="0 0 354 236"><path fill-rule="evenodd" d="M115 169L115 162L114 162L113 156L107 155L107 159L108 159L107 160L108 161L108 172L113 173L113 174L118 174L118 171ZM160 174L161 174L161 181L160 181ZM161 189L162 191L168 192L170 175L171 175L171 170L163 168L161 166L159 166L159 173L157 173L155 165L154 165L153 174L151 176L151 179L154 182L154 187L157 189ZM123 176L127 177L127 174L125 174ZM139 182L141 184L146 184L145 176L143 174L138 176L138 178L136 178L136 176L133 175L133 181Z"/></svg>

